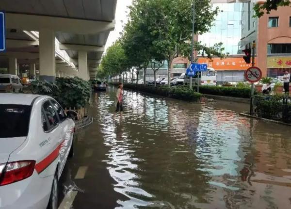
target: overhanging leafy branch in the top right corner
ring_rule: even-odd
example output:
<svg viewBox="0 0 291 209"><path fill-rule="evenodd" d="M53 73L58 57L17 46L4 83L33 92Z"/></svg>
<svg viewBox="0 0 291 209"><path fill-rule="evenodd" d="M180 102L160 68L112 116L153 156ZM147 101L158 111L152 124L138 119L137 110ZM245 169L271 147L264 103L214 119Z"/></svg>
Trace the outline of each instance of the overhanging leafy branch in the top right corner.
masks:
<svg viewBox="0 0 291 209"><path fill-rule="evenodd" d="M263 16L266 12L270 14L271 10L277 10L279 6L289 6L290 0L266 0L264 3L257 3L254 7L255 16Z"/></svg>

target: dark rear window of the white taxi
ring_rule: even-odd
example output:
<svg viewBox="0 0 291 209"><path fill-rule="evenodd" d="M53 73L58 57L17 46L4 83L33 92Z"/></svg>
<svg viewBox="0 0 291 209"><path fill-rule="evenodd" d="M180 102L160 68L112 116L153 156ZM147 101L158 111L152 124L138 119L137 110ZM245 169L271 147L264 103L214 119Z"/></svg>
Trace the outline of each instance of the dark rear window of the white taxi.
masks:
<svg viewBox="0 0 291 209"><path fill-rule="evenodd" d="M31 106L0 104L0 138L27 136Z"/></svg>

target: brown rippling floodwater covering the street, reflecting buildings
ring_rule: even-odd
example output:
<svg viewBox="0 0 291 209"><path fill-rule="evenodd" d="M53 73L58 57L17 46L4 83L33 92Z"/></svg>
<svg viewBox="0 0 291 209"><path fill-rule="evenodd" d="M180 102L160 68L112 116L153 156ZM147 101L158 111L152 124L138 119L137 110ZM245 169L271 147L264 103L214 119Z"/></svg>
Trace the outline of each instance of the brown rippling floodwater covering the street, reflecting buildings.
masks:
<svg viewBox="0 0 291 209"><path fill-rule="evenodd" d="M290 209L290 127L240 116L248 105L97 92L62 177L73 209ZM65 207L64 207L65 205Z"/></svg>

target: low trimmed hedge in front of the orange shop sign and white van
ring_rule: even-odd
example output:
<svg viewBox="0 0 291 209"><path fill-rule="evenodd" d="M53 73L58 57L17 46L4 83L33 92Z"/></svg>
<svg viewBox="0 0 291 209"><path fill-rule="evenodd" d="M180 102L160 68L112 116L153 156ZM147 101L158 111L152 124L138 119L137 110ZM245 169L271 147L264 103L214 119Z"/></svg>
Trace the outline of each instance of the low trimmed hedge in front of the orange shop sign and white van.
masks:
<svg viewBox="0 0 291 209"><path fill-rule="evenodd" d="M195 91L197 91L197 86L194 86L194 89ZM218 96L250 98L251 88L233 86L199 86L199 93Z"/></svg>

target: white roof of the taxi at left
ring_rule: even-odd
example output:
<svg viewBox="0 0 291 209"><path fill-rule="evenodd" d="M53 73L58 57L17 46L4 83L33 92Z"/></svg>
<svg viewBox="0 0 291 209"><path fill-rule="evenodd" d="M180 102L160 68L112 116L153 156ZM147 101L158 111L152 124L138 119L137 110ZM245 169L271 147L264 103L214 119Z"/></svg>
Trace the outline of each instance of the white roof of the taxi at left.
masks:
<svg viewBox="0 0 291 209"><path fill-rule="evenodd" d="M0 104L31 105L33 99L41 95L0 93Z"/></svg>

